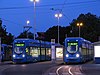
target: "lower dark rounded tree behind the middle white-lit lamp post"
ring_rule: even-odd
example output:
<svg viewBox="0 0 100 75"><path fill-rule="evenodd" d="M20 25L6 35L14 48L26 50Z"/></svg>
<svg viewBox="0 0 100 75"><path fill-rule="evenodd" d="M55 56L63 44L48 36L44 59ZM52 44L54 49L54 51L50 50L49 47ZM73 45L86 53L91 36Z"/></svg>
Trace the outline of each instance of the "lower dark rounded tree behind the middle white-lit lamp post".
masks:
<svg viewBox="0 0 100 75"><path fill-rule="evenodd" d="M71 27L61 27L59 26L59 42L63 44L64 39L66 38L66 34L70 35ZM51 41L51 39L55 39L56 43L58 42L58 26L53 26L49 28L45 33L45 40Z"/></svg>

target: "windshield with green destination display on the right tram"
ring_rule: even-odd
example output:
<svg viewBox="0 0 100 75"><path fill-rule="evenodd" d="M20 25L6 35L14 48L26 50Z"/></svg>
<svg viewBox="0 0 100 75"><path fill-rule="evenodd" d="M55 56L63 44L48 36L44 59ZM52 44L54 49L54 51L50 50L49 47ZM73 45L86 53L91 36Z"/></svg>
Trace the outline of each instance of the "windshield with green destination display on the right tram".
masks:
<svg viewBox="0 0 100 75"><path fill-rule="evenodd" d="M67 51L69 53L75 53L78 50L78 43L74 42L68 42L68 47L67 47Z"/></svg>

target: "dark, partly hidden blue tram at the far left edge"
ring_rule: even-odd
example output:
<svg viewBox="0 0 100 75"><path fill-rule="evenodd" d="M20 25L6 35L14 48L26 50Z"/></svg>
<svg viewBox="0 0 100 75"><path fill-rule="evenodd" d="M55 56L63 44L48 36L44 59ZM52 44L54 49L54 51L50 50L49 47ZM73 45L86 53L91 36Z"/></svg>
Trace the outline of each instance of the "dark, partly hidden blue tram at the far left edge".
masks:
<svg viewBox="0 0 100 75"><path fill-rule="evenodd" d="M1 44L1 61L12 60L12 45Z"/></svg>

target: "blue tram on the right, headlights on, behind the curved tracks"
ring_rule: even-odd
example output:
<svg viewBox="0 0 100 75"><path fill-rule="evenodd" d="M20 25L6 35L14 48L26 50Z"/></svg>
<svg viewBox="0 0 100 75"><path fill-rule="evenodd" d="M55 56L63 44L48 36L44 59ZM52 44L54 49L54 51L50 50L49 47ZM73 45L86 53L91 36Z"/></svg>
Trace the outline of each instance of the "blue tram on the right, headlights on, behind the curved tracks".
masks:
<svg viewBox="0 0 100 75"><path fill-rule="evenodd" d="M93 59L93 45L80 37L65 39L64 62L80 63Z"/></svg>

